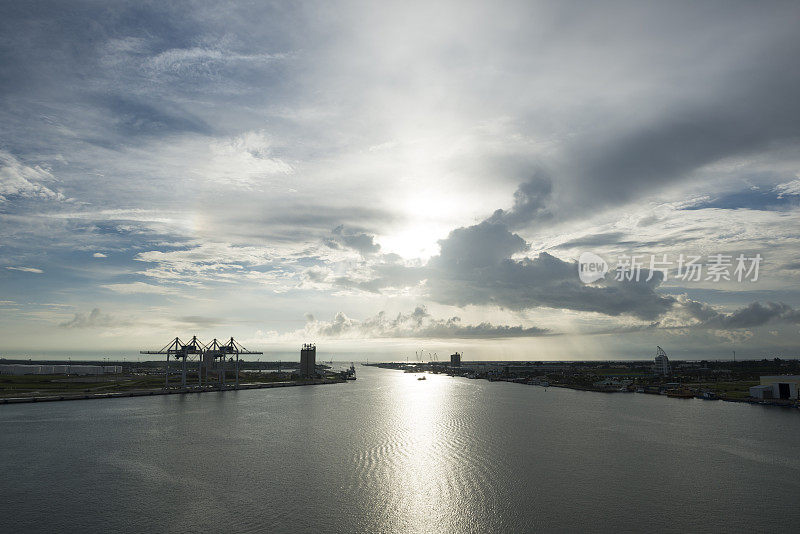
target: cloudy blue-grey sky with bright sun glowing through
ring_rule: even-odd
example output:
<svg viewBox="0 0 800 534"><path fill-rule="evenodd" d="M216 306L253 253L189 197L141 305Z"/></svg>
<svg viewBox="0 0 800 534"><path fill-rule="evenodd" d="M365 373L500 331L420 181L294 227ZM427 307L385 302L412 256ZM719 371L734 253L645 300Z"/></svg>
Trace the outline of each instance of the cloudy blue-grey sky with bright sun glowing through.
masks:
<svg viewBox="0 0 800 534"><path fill-rule="evenodd" d="M3 2L0 356L798 357L798 23Z"/></svg>

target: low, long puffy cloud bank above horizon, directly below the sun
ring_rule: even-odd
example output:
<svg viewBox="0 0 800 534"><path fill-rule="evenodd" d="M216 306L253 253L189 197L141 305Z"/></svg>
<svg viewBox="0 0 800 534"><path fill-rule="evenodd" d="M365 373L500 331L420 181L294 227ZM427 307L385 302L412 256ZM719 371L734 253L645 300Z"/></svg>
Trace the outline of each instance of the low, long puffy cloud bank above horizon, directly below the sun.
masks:
<svg viewBox="0 0 800 534"><path fill-rule="evenodd" d="M494 325L482 322L475 325L462 324L459 317L436 319L425 306L418 306L411 313L388 316L380 312L359 321L339 312L332 321L318 321L307 314L308 323L303 330L306 338L420 338L420 339L492 339L513 337L537 337L548 335L545 328Z"/></svg>

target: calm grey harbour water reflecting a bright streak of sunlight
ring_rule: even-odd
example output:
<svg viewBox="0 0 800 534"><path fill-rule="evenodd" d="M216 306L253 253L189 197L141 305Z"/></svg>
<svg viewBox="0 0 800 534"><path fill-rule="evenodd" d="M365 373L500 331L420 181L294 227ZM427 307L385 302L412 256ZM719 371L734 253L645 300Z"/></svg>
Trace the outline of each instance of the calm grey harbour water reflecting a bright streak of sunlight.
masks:
<svg viewBox="0 0 800 534"><path fill-rule="evenodd" d="M800 411L358 368L347 384L0 406L7 532L800 524Z"/></svg>

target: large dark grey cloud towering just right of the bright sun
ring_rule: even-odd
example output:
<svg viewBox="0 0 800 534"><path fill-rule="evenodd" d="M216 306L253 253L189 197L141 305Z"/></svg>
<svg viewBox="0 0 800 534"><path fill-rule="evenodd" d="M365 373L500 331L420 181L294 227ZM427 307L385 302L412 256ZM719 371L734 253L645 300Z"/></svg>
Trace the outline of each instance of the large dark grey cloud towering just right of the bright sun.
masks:
<svg viewBox="0 0 800 534"><path fill-rule="evenodd" d="M340 277L334 283L380 293L389 287L408 287L424 281L430 298L442 304L492 305L516 311L546 307L630 316L650 321L646 328L659 327L659 321L669 314L686 317L695 327L720 330L800 322L800 312L783 303L755 302L724 313L705 302L660 294L657 290L662 273L653 273L647 281L647 269L642 270L639 281L617 281L610 273L603 281L585 285L579 280L576 262L546 252L535 258L518 257L528 251L529 245L504 223L491 219L453 230L439 245L440 254L425 266L387 262L372 270L373 278ZM645 327L630 328L634 331Z"/></svg>

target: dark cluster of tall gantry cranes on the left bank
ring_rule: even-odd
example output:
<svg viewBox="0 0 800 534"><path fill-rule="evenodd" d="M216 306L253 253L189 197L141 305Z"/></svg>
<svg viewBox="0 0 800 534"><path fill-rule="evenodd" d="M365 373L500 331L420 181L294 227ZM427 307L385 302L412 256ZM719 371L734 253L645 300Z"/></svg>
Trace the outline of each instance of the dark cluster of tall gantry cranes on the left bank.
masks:
<svg viewBox="0 0 800 534"><path fill-rule="evenodd" d="M186 388L186 372L190 358L197 357L197 385L203 386L203 371L205 371L206 385L211 385L211 375L209 371L212 367L217 368L217 385L220 388L226 387L226 371L228 361L236 358L236 385L239 387L239 355L240 354L264 354L263 352L250 351L236 342L232 337L225 343L221 343L214 338L211 342L204 345L192 336L191 341L184 343L179 337L171 340L161 350L143 350L139 354L163 354L166 356L164 365L164 388L169 388L169 360L171 357L182 360L181 365L181 387Z"/></svg>

